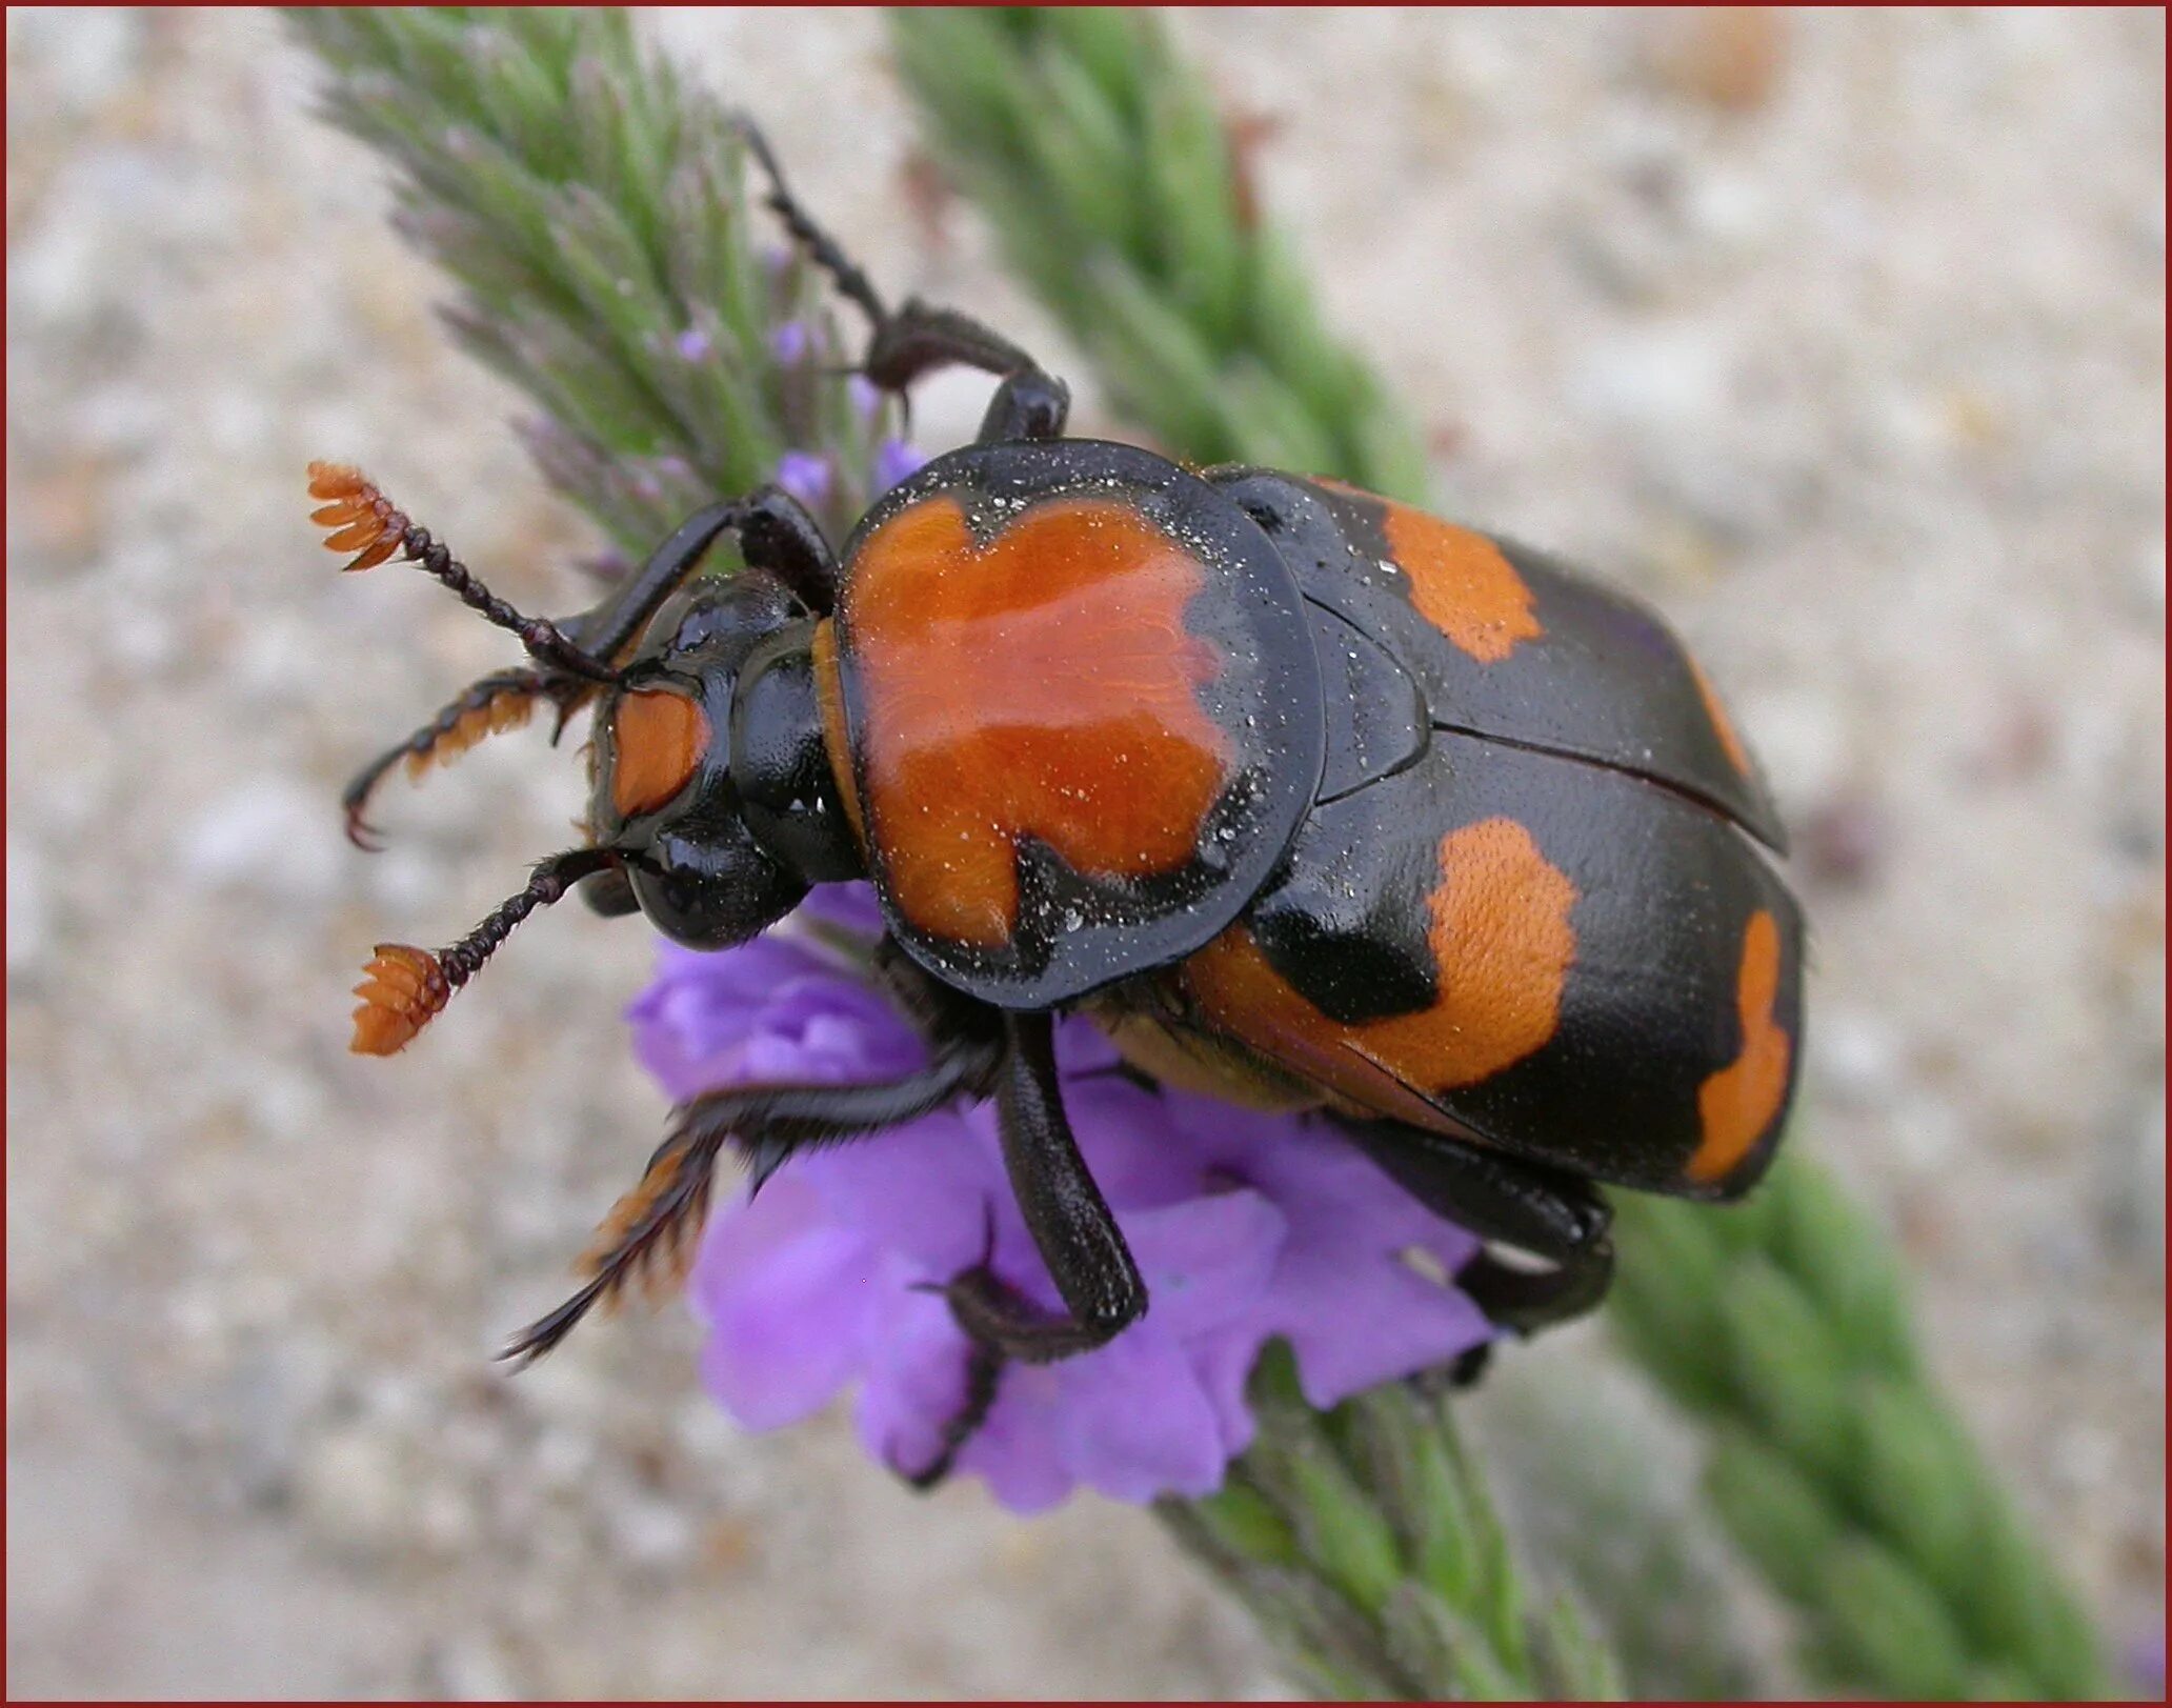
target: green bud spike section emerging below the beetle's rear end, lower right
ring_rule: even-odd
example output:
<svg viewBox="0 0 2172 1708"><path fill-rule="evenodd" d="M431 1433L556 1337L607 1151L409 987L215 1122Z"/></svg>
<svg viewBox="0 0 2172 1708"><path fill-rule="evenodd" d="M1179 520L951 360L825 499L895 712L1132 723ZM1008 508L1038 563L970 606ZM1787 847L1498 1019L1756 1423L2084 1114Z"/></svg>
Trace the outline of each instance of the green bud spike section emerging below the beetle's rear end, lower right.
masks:
<svg viewBox="0 0 2172 1708"><path fill-rule="evenodd" d="M1714 1447L1707 1495L1881 1695L2107 1697L2096 1636L1924 1371L1892 1241L1805 1158L1748 1204L1625 1197L1622 1343Z"/></svg>

